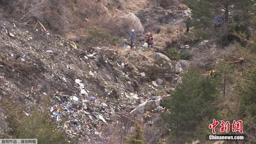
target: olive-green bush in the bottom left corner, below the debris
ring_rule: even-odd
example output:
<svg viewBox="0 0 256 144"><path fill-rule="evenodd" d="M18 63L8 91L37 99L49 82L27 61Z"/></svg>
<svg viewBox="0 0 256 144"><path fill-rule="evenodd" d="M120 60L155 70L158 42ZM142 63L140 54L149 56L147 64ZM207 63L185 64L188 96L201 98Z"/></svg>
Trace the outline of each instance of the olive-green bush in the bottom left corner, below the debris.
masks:
<svg viewBox="0 0 256 144"><path fill-rule="evenodd" d="M36 138L38 144L68 144L64 130L57 130L56 121L50 120L48 111L33 108L30 116L25 114L26 108L21 104L10 103L14 98L2 100L10 130L2 138Z"/></svg>

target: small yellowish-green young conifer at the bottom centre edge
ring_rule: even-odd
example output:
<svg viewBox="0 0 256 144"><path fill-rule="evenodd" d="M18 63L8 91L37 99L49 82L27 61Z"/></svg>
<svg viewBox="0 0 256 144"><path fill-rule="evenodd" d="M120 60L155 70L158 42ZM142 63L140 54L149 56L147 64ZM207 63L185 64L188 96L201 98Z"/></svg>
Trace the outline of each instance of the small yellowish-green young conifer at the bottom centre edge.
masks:
<svg viewBox="0 0 256 144"><path fill-rule="evenodd" d="M125 144L144 144L143 130L138 122L135 123L134 135L125 138Z"/></svg>

